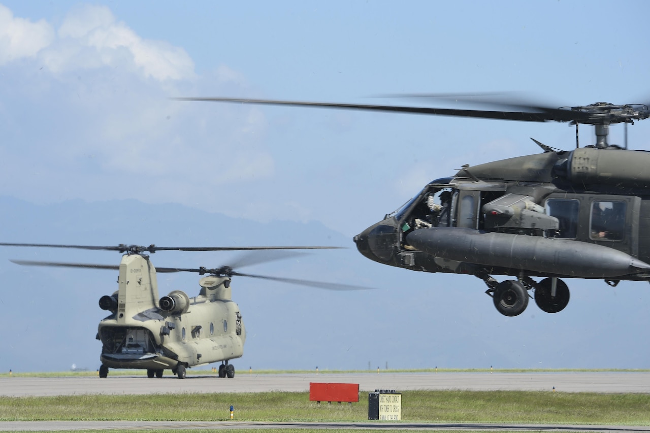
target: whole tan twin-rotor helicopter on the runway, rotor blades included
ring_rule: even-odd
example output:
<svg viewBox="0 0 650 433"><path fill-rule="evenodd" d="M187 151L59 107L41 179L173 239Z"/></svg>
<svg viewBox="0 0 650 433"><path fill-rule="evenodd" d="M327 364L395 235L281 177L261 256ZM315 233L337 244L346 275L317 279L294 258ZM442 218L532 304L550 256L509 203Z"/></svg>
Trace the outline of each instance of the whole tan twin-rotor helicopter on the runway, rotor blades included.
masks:
<svg viewBox="0 0 650 433"><path fill-rule="evenodd" d="M244 274L233 268L282 259L298 252L285 251L282 256L261 255L255 250L311 250L337 248L331 246L271 246L271 247L161 247L85 246L57 244L0 243L0 246L37 246L49 248L81 248L84 250L111 250L123 254L119 266L61 263L51 261L12 260L18 265L72 267L119 270L118 290L101 296L99 307L109 315L99 322L97 339L102 343L99 377L105 378L109 368L146 369L149 378L162 377L164 369L171 369L179 378L185 378L186 369L221 362L219 377L233 378L235 367L229 360L244 353L246 328L239 306L231 296L233 276L248 276L279 282L307 285L332 290L358 290L366 287L338 283L313 282L294 278L280 278ZM250 250L237 263L216 269L155 268L145 253L164 250L224 251ZM184 291L174 290L159 298L156 275L168 272L196 272L203 276L199 294L189 297Z"/></svg>

